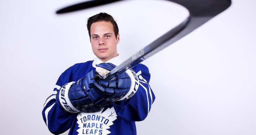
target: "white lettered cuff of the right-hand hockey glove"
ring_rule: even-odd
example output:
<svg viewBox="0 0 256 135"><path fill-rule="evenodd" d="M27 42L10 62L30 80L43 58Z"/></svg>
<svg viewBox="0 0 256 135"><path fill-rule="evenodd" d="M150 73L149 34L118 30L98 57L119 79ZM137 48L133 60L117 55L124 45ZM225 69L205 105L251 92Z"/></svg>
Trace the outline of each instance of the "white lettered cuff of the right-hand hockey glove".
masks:
<svg viewBox="0 0 256 135"><path fill-rule="evenodd" d="M131 98L131 96L134 95L135 92L137 92L137 90L139 88L139 79L138 79L136 73L134 72L134 70L128 69L125 72L128 74L128 76L131 79L131 87L130 87L130 90L128 91L128 93L125 94L124 97L122 97L121 99L119 99L117 101L127 100L127 99Z"/></svg>

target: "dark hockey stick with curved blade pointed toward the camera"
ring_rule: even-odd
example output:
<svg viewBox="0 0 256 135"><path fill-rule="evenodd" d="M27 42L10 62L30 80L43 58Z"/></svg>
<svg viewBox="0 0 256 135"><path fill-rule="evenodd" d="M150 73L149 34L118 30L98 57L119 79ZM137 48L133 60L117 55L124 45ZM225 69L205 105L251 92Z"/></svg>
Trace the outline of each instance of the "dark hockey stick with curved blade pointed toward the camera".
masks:
<svg viewBox="0 0 256 135"><path fill-rule="evenodd" d="M103 5L117 0L94 0L75 4L64 9L58 10L56 13L66 13L77 11L81 9L95 7L97 5ZM134 67L143 60L149 58L150 56L156 54L160 50L166 48L172 43L178 41L180 38L194 31L199 26L203 25L205 22L212 19L217 14L226 10L231 5L231 0L169 0L180 5L183 5L190 12L190 16L181 22L178 26L174 27L166 34L159 37L157 40L153 41L146 47L139 50L137 53L132 55L130 58L125 60L119 66L111 70L107 75L103 77L112 78L115 75L119 75L122 72Z"/></svg>

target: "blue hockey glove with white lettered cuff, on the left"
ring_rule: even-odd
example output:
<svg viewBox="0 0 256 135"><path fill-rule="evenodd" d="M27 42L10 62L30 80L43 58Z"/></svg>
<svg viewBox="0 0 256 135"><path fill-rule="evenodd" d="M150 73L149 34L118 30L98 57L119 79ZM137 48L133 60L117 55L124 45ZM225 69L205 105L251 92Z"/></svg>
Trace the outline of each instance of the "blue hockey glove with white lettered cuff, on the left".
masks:
<svg viewBox="0 0 256 135"><path fill-rule="evenodd" d="M86 76L94 76L95 71L90 71ZM90 88L88 83L92 78L81 78L76 82L70 82L62 86L56 94L56 102L62 106L64 110L71 113L95 112L99 110L99 106L94 104L90 99L88 92ZM91 92L90 92L91 93Z"/></svg>

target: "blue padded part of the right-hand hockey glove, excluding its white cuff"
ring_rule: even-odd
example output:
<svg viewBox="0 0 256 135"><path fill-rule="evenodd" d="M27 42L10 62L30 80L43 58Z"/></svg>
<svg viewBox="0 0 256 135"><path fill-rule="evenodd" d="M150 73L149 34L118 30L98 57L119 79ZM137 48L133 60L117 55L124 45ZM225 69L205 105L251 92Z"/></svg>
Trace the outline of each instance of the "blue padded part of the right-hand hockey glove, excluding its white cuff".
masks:
<svg viewBox="0 0 256 135"><path fill-rule="evenodd" d="M101 63L96 66L109 71L116 67L114 64L111 63ZM130 90L131 79L126 72L123 72L122 74L116 76L111 80L108 78L106 78L105 80L99 79L97 81L95 79L88 79L93 78L94 76L95 73L89 74L89 76L86 76L86 80L87 83L89 82L90 88L88 96L92 101L95 102L95 105L105 106L111 104L124 97L124 95L126 95Z"/></svg>

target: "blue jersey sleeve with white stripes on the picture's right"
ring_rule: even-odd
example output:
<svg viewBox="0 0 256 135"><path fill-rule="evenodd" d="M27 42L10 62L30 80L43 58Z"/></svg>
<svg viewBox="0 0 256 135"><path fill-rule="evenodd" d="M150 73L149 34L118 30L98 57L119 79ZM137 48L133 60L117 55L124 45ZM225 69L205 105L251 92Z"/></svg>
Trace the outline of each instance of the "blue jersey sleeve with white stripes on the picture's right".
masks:
<svg viewBox="0 0 256 135"><path fill-rule="evenodd" d="M128 100L113 103L113 106L121 119L142 121L147 117L155 100L155 95L149 86L150 74L148 68L145 65L138 64L132 69L139 79L137 92Z"/></svg>

